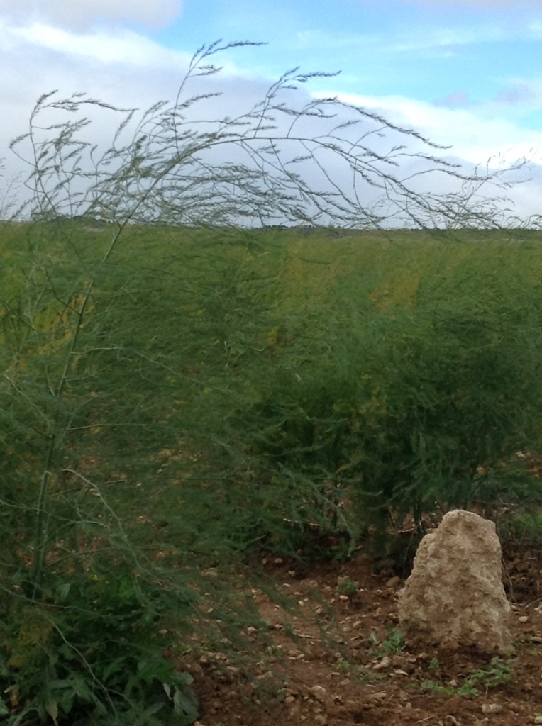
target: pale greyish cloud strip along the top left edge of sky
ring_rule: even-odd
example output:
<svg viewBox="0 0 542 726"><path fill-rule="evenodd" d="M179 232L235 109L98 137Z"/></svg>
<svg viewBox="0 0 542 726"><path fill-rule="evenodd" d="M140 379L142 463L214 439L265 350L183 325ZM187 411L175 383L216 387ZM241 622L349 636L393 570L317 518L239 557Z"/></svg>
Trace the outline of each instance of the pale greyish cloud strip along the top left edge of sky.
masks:
<svg viewBox="0 0 542 726"><path fill-rule="evenodd" d="M84 30L94 23L141 23L158 28L182 13L182 0L0 0L0 15L15 22L52 23Z"/></svg>

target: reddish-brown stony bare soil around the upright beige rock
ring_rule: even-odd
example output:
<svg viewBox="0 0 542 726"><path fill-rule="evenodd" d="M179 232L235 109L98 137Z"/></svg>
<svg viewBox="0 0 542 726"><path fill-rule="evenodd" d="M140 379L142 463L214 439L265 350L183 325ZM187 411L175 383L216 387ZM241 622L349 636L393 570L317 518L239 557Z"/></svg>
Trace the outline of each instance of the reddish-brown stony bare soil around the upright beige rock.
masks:
<svg viewBox="0 0 542 726"><path fill-rule="evenodd" d="M262 563L286 607L252 593L270 636L252 682L212 653L188 664L202 726L542 724L542 557L534 547L503 556L510 658L406 648L397 630L404 579L393 563L379 574L363 555L344 564L272 555Z"/></svg>

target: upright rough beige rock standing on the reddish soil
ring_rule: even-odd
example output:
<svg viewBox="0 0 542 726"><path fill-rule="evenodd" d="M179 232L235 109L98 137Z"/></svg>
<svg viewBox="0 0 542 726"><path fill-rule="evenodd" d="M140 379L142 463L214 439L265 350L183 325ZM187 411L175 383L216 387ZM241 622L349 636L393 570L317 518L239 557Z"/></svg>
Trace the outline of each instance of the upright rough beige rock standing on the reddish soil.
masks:
<svg viewBox="0 0 542 726"><path fill-rule="evenodd" d="M399 593L405 641L506 653L509 613L495 524L472 512L448 512L421 540Z"/></svg>

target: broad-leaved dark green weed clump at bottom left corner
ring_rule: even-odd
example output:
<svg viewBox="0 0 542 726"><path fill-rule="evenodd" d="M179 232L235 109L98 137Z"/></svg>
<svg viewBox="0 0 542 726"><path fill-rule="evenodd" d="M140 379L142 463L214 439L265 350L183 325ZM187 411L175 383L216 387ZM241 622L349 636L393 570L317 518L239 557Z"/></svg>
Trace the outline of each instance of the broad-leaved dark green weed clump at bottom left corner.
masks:
<svg viewBox="0 0 542 726"><path fill-rule="evenodd" d="M52 593L53 595L54 593ZM12 610L1 680L15 723L178 723L199 713L193 679L163 655L163 593L120 572L82 574ZM4 709L8 709L4 703Z"/></svg>

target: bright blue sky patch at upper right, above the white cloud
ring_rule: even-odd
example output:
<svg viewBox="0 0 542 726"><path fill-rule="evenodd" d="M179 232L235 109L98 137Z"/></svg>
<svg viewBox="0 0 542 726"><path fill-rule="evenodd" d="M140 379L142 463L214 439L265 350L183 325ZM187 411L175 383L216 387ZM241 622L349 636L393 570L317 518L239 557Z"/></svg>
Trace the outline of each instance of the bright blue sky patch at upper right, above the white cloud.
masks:
<svg viewBox="0 0 542 726"><path fill-rule="evenodd" d="M270 77L295 65L341 70L326 89L478 109L542 130L542 1L187 0L153 37L183 49L195 39L267 41L240 64Z"/></svg>

